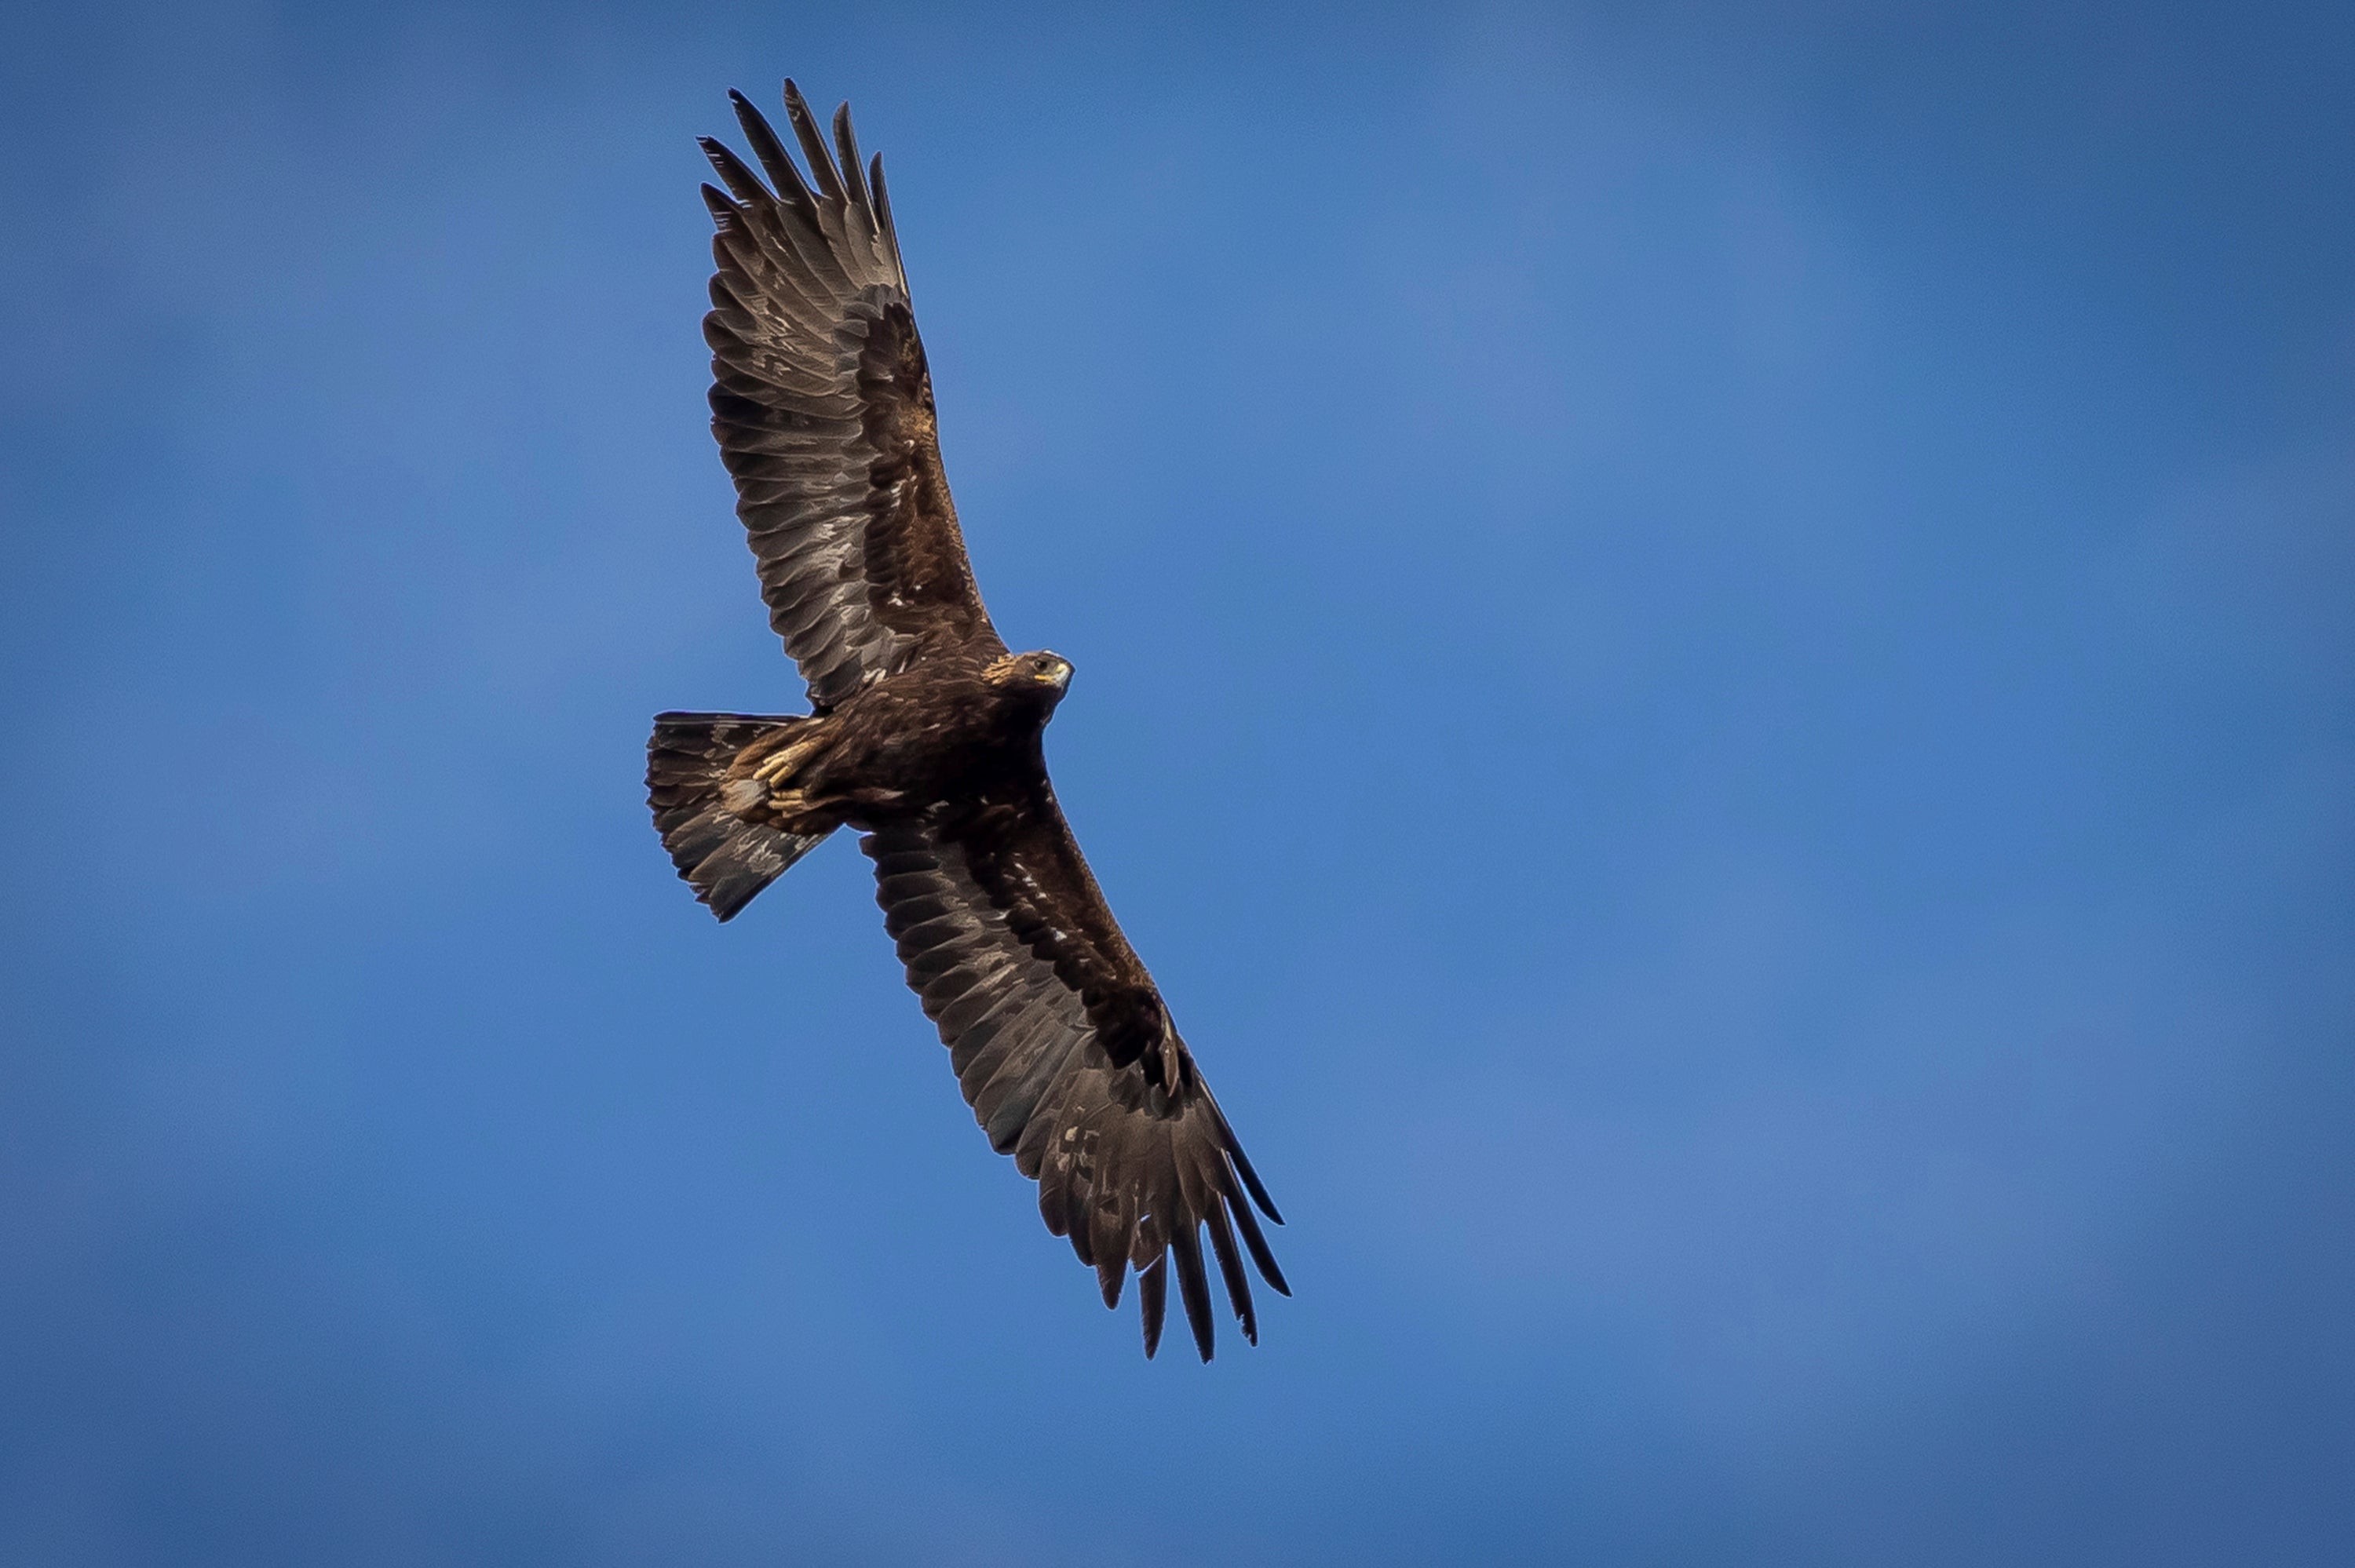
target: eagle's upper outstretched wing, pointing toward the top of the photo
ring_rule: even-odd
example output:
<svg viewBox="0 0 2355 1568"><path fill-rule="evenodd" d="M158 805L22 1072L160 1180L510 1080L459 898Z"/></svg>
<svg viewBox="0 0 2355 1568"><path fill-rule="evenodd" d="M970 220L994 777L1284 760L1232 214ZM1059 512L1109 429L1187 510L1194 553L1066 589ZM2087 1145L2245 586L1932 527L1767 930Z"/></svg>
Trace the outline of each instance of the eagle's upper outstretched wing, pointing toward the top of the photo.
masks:
<svg viewBox="0 0 2355 1568"><path fill-rule="evenodd" d="M709 137L728 191L704 186L711 254L711 433L761 563L768 624L834 706L942 643L996 645L949 480L933 377L909 311L883 160L860 170L850 106L841 165L801 89L784 111L801 177L768 120L730 94L768 184Z"/></svg>

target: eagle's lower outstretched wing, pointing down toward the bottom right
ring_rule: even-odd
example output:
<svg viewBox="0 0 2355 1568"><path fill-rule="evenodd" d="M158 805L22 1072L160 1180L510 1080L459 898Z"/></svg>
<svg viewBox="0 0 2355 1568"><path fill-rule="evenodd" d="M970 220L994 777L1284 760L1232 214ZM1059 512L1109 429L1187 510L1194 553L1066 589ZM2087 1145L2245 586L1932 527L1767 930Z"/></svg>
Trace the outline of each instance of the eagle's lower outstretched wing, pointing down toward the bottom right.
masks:
<svg viewBox="0 0 2355 1568"><path fill-rule="evenodd" d="M1291 1295L1251 1203L1281 1215L1112 921L1046 775L1008 798L883 826L864 850L883 925L940 1024L966 1104L999 1154L1039 1182L1046 1227L1095 1269L1104 1304L1119 1304L1133 1264L1152 1356L1175 1255L1208 1361L1208 1227L1227 1300L1258 1342L1236 1234L1267 1283Z"/></svg>

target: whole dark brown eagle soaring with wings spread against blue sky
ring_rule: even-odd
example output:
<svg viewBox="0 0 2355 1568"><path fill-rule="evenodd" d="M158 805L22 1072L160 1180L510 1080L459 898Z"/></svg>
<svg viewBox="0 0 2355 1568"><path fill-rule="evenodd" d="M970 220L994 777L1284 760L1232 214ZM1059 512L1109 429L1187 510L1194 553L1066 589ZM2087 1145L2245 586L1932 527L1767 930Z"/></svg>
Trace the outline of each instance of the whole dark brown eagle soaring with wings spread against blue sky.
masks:
<svg viewBox="0 0 2355 1568"><path fill-rule="evenodd" d="M843 104L836 162L787 82L803 179L761 111L728 97L768 181L702 141L728 186L704 186L711 433L812 711L657 716L645 791L662 845L725 921L857 829L966 1104L1039 1182L1046 1227L1095 1269L1104 1304L1133 1267L1152 1356L1175 1257L1208 1361L1208 1229L1258 1342L1241 1255L1291 1295L1251 1208L1281 1215L1055 805L1041 739L1072 664L1008 652L982 610L883 160L860 167Z"/></svg>

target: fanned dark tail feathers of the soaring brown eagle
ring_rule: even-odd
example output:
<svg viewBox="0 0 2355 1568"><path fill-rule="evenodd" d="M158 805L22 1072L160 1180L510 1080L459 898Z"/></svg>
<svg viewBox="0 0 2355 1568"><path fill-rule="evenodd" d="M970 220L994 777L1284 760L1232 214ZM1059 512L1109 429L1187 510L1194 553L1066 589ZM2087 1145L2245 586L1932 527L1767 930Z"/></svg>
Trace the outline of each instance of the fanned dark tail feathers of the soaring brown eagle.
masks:
<svg viewBox="0 0 2355 1568"><path fill-rule="evenodd" d="M657 713L645 744L645 803L678 876L728 921L824 833L784 833L744 822L723 798L728 765L744 746L808 723L763 713Z"/></svg>

